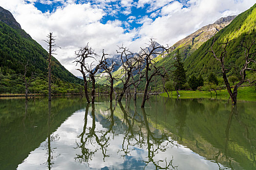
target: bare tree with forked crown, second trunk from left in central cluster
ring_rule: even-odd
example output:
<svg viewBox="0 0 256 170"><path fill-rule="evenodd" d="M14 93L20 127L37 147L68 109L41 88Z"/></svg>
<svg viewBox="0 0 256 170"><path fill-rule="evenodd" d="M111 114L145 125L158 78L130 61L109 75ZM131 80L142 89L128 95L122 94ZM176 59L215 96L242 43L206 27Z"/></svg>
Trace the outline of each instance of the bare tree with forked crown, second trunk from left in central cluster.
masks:
<svg viewBox="0 0 256 170"><path fill-rule="evenodd" d="M80 70L80 72L84 72L84 74L86 71L86 73L89 74L89 79L90 79L91 85L92 85L91 103L94 103L94 101L95 101L95 74L98 72L99 69L103 69L103 65L106 63L106 55L108 55L108 54L105 54L104 50L103 50L101 59L98 61L97 65L94 65L94 61L91 62L90 64L87 63L87 61L85 61L85 60L88 60L89 58L97 60L96 58L99 57L91 48L89 48L88 44L84 48L80 49L79 51L76 51L76 55L77 55L77 58L74 62L79 63L81 66L81 69L78 69L78 70ZM84 71L84 69L85 69L85 71ZM83 74L83 76L84 76L84 74ZM85 80L86 80L86 77L85 77ZM87 81L85 81L85 83L87 83ZM86 84L86 86L87 86L87 84ZM86 97L86 99L87 99L87 97ZM87 100L87 102L89 102L89 101Z"/></svg>

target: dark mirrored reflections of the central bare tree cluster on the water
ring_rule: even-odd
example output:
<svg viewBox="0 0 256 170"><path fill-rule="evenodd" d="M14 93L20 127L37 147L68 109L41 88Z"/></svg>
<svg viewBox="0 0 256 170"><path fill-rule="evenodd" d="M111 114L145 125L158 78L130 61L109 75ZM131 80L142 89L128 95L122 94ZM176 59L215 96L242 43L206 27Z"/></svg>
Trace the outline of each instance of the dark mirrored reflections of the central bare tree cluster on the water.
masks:
<svg viewBox="0 0 256 170"><path fill-rule="evenodd" d="M91 106L91 117L92 117L92 125L91 127L87 127L87 117L90 104L86 105L85 109L85 124L83 132L79 137L80 142L77 142L76 149L81 149L80 154L76 154L75 160L80 163L86 163L89 166L89 162L92 161L94 155L101 151L103 155L103 161L107 157L109 157L108 147L110 145L110 140L115 138L116 135L113 127L115 125L114 121L114 110L116 105L113 108L113 103L109 102L110 106L107 110L110 112L110 116L108 116L108 121L110 122L107 129L98 130L96 127L96 119L95 119L95 105ZM122 127L124 130L122 132L122 145L121 148L116 151L120 157L125 158L127 156L133 156L132 151L139 149L146 149L148 155L146 157L147 160L141 160L144 162L144 169L153 166L155 169L172 169L177 170L178 166L173 165L173 157L171 160L168 158L159 159L156 158L158 153L166 151L169 147L178 147L178 144L175 144L174 140L171 137L167 136L165 133L159 135L151 132L149 127L149 122L147 119L147 114L144 108L141 109L141 113L137 111L136 101L134 101L134 110L131 111L129 109L129 102L126 102L126 107L119 102L119 107L122 111L123 119L122 119ZM119 127L117 127L118 129ZM152 128L151 128L152 129ZM154 129L154 128L153 128ZM110 136L113 136L110 138Z"/></svg>

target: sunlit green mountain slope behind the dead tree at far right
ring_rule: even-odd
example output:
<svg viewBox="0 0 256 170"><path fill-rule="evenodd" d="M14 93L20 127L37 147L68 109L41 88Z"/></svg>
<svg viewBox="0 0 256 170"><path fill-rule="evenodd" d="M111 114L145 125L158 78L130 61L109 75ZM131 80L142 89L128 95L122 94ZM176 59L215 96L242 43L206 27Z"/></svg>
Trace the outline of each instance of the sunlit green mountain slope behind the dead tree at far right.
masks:
<svg viewBox="0 0 256 170"><path fill-rule="evenodd" d="M247 43L252 42L256 38L256 4L249 10L235 17L235 19L224 29L216 34L216 43L213 50L217 55L220 55L222 48L218 43L225 42L226 38L234 39L227 47L227 58L225 59L226 67L231 70L231 74L239 74L239 68L242 67L244 62L244 49L240 47L242 41ZM192 53L189 58L185 60L185 68L188 74L215 74L221 72L219 63L213 58L212 54L208 51L213 44L213 38L205 42L198 50ZM256 46L252 51L256 51ZM254 66L255 67L255 66Z"/></svg>

